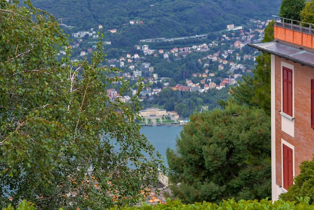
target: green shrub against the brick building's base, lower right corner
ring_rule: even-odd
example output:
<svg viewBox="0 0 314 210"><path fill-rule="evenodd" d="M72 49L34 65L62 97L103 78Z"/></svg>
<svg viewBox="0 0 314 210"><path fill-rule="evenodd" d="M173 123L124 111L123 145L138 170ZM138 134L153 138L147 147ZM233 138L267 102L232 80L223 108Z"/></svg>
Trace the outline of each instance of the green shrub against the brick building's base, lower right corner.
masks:
<svg viewBox="0 0 314 210"><path fill-rule="evenodd" d="M314 201L314 159L301 163L300 174L294 177L293 181L288 192L280 194L280 198L300 202L299 197L308 197L309 203L312 204Z"/></svg>

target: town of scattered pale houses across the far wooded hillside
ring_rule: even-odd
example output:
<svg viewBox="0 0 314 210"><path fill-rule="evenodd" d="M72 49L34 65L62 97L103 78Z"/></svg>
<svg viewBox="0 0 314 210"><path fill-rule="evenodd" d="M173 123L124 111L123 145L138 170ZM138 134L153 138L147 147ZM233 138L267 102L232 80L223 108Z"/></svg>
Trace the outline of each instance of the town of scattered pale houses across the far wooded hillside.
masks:
<svg viewBox="0 0 314 210"><path fill-rule="evenodd" d="M209 37L208 35L196 35L171 39L158 38L139 40L139 44L134 46L136 53L125 52L124 56L117 58L112 58L112 56L108 55L109 58L104 65L121 69L122 73L119 76L125 80L137 82L138 78L143 78L142 83L145 85L145 88L140 92L140 100L150 98L153 95L159 95L166 87L174 91L191 91L198 92L199 94L211 89L221 90L228 86L237 85L238 80L241 79L243 75L252 75L255 58L259 53L257 50L244 51L244 49L248 48L246 46L248 43L261 42L264 36L264 28L270 21L271 20L259 21L252 19L245 27L230 24L226 26L224 32L215 37L211 37L212 41L210 42L203 42L197 45L192 44L184 47L173 47L171 49L153 49L151 45L154 46L155 42L170 43L174 40L185 39L198 39L199 42L202 42L202 40L209 40ZM132 21L129 22L129 24L135 23L136 22ZM103 30L103 26L98 25L98 30ZM111 34L117 33L116 29L104 30ZM79 55L74 55L72 61L79 61L90 57L96 49L96 40L99 38L97 30L92 28L90 31L72 33L71 36L74 39L71 45L73 50L87 46L86 40L88 40L89 44L89 47L82 49ZM104 41L104 45L111 45L111 41ZM60 51L60 54L64 53L64 51ZM202 66L201 70L191 72L189 77L186 77L180 82L174 82L173 78L163 76L162 72L149 62L152 59L159 60L160 63L176 62L188 58L190 55L198 54L200 56L198 56L195 62ZM169 69L169 71L171 71L171 69ZM135 95L136 92L137 89L131 90L132 95ZM130 96L132 96L120 95L119 90L114 87L107 89L107 95L111 100L118 98L123 102L128 102L131 98ZM174 110L167 111L175 112ZM178 115L178 113L176 113L176 115Z"/></svg>

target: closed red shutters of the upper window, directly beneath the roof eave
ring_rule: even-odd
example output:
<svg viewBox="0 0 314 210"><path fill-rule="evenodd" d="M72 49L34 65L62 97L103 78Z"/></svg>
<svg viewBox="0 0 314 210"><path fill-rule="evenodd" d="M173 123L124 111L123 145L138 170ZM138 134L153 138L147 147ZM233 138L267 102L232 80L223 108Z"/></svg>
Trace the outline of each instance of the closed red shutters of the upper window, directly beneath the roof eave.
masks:
<svg viewBox="0 0 314 210"><path fill-rule="evenodd" d="M282 111L292 117L292 69L282 67Z"/></svg>

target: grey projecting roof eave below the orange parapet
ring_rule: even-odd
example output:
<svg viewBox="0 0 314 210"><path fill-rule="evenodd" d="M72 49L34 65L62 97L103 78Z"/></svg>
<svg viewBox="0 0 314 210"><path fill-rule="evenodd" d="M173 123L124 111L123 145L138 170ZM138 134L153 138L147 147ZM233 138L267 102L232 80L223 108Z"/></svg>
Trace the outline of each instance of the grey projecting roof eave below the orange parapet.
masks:
<svg viewBox="0 0 314 210"><path fill-rule="evenodd" d="M248 46L253 47L262 52L276 55L278 57L291 60L295 63L299 63L301 65L314 68L314 53L304 50L302 47L301 48L292 47L279 42L248 44Z"/></svg>

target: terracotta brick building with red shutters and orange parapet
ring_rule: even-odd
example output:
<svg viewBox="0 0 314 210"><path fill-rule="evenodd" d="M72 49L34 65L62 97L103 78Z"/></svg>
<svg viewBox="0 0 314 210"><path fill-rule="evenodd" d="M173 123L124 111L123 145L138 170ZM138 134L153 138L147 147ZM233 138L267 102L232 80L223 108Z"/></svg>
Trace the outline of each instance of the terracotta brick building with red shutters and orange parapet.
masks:
<svg viewBox="0 0 314 210"><path fill-rule="evenodd" d="M275 16L274 42L249 44L271 54L272 200L314 153L314 25L302 25Z"/></svg>

